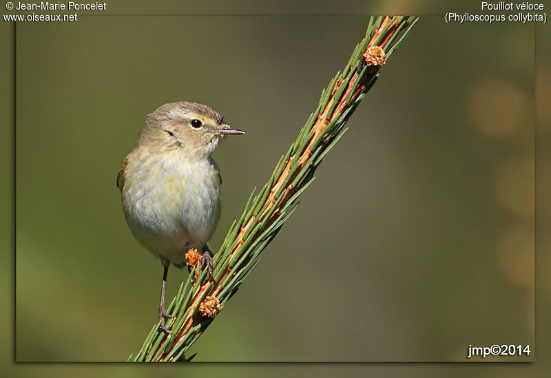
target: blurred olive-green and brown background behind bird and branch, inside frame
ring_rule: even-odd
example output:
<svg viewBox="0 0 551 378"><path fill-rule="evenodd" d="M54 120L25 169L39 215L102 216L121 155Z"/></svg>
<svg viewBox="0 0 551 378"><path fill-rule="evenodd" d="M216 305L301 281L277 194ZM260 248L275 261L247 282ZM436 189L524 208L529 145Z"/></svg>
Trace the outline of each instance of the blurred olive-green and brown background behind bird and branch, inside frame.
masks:
<svg viewBox="0 0 551 378"><path fill-rule="evenodd" d="M215 153L218 246L366 23L19 24L17 360L121 361L155 321L161 267L114 185L147 112L198 101L249 133ZM469 344L533 344L533 109L533 25L423 17L196 358L464 361Z"/></svg>

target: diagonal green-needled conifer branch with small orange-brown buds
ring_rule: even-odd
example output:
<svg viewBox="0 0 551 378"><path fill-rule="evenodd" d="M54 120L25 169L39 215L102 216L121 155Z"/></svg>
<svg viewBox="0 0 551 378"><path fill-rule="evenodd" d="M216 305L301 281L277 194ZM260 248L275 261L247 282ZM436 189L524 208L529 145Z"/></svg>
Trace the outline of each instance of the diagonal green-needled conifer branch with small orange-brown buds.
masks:
<svg viewBox="0 0 551 378"><path fill-rule="evenodd" d="M239 220L231 225L214 256L214 281L207 269L189 274L167 307L172 334L155 324L131 361L184 361L184 353L202 335L217 313L236 293L258 264L258 255L275 238L298 205L300 194L313 181L315 169L346 132L344 125L371 89L384 60L404 40L417 17L371 17L366 36L356 45L342 73L322 91L318 108L287 154L280 158L270 179L255 195L253 190ZM191 257L188 259L192 261Z"/></svg>

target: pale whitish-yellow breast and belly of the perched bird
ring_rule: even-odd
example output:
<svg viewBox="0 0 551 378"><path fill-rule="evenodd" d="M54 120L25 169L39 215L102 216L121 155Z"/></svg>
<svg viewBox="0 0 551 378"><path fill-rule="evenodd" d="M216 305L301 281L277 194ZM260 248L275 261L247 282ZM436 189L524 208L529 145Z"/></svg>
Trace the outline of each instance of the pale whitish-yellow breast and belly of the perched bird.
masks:
<svg viewBox="0 0 551 378"><path fill-rule="evenodd" d="M220 187L213 168L162 167L123 190L128 225L154 255L181 266L187 249L204 246L214 233L220 218Z"/></svg>

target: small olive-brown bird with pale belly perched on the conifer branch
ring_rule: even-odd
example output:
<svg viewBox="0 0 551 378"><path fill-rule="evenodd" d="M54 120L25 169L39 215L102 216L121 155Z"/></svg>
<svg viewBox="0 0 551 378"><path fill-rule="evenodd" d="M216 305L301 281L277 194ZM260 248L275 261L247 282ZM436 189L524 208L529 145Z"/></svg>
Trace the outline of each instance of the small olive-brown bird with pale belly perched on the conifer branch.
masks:
<svg viewBox="0 0 551 378"><path fill-rule="evenodd" d="M190 102L161 105L147 115L134 149L126 156L116 183L126 222L147 250L163 264L160 327L165 310L168 267L185 266L185 251L203 251L211 271L207 241L220 219L220 169L211 158L227 135L245 134L207 105Z"/></svg>

